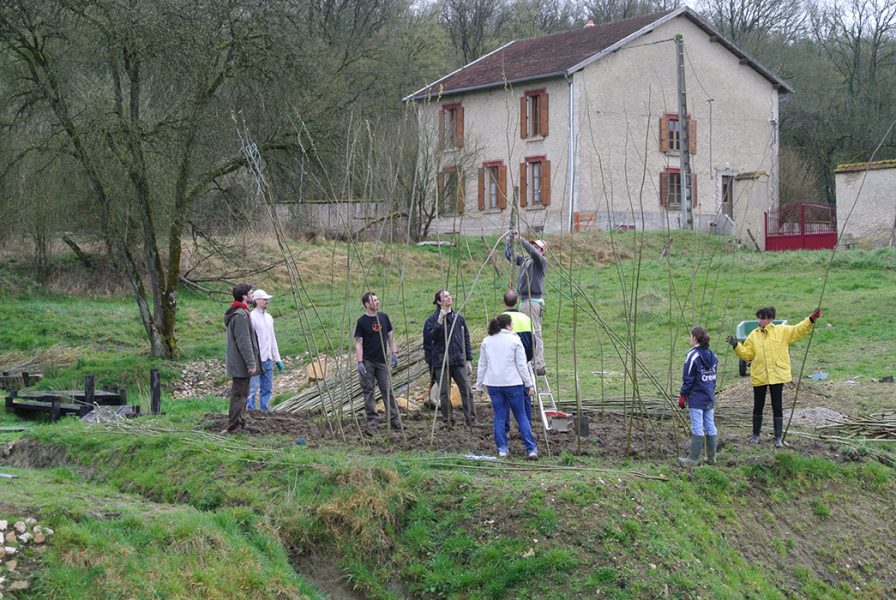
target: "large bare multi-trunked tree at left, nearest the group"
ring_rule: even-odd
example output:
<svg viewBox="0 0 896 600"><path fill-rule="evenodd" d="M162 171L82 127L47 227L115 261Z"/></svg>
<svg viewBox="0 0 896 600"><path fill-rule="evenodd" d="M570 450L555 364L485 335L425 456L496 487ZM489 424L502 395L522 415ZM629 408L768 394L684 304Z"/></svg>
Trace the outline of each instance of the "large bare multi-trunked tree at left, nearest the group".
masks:
<svg viewBox="0 0 896 600"><path fill-rule="evenodd" d="M77 163L153 356L178 354L190 207L245 167L215 125L230 112L228 99L270 85L264 61L276 44L268 29L276 6L10 0L0 8L13 83L7 130L47 123L51 133L30 150Z"/></svg>

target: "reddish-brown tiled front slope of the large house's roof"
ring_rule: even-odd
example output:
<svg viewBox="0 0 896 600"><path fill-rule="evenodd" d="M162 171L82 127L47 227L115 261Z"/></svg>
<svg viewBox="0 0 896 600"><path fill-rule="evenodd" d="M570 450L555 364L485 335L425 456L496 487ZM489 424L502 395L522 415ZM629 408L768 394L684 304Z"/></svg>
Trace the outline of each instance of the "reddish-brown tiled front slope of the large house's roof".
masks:
<svg viewBox="0 0 896 600"><path fill-rule="evenodd" d="M413 94L424 98L559 75L673 11L584 27L575 31L510 42Z"/></svg>

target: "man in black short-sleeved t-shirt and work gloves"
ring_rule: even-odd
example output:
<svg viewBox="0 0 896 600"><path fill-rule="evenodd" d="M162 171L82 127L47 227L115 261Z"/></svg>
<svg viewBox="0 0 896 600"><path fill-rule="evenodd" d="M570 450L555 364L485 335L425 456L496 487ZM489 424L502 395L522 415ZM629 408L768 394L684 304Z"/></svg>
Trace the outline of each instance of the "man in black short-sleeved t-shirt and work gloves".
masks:
<svg viewBox="0 0 896 600"><path fill-rule="evenodd" d="M401 418L395 405L395 395L389 381L389 366L398 367L398 345L392 335L392 322L386 313L377 311L380 300L373 292L361 296L364 314L355 325L355 358L358 361L358 376L364 391L364 410L367 413L367 428L379 427L376 403L373 400L373 380L376 378L386 415L395 429L401 428ZM389 348L389 365L386 365L386 348Z"/></svg>

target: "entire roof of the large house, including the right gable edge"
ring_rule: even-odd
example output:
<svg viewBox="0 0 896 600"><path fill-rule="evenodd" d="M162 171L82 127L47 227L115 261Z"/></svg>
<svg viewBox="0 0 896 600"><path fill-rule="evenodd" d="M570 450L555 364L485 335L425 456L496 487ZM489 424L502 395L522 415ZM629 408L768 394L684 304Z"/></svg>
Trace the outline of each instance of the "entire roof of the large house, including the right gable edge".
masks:
<svg viewBox="0 0 896 600"><path fill-rule="evenodd" d="M405 101L486 89L505 83L560 77L569 74L574 67L581 68L582 63L598 57L620 42L646 34L679 15L696 23L773 85L784 91L792 91L777 75L722 37L691 9L678 8L564 33L515 40L417 90L407 96Z"/></svg>

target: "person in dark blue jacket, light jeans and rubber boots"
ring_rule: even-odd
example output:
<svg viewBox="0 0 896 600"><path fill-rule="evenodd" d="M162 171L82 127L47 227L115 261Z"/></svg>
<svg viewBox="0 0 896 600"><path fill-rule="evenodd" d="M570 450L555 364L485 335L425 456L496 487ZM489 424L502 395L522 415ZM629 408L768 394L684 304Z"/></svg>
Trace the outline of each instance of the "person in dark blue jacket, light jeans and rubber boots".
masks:
<svg viewBox="0 0 896 600"><path fill-rule="evenodd" d="M691 451L678 458L683 467L700 464L704 437L706 463L716 464L718 431L714 420L716 403L716 368L719 358L709 349L709 335L702 327L691 329L691 349L684 359L678 406L688 407L691 414Z"/></svg>

